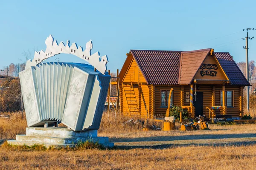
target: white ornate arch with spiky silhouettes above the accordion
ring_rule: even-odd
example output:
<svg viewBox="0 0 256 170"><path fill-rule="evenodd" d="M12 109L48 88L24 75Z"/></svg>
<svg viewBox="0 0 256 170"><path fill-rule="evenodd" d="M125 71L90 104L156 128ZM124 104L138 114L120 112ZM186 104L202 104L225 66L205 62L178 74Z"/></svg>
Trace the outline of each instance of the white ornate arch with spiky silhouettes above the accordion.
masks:
<svg viewBox="0 0 256 170"><path fill-rule="evenodd" d="M54 40L52 35L49 35L45 40L46 50L35 51L34 59L29 59L26 62L26 68L31 66L35 66L45 59L55 56L56 54L65 53L65 54L73 54L81 59L87 61L90 65L96 68L102 74L105 74L107 71L107 62L108 57L102 56L100 57L99 52L96 52L91 55L91 50L93 49L92 40L88 41L85 45L85 50L81 46L77 47L76 42L72 43L70 46L69 40L67 40L67 45L64 42L60 42L58 44L57 40Z"/></svg>

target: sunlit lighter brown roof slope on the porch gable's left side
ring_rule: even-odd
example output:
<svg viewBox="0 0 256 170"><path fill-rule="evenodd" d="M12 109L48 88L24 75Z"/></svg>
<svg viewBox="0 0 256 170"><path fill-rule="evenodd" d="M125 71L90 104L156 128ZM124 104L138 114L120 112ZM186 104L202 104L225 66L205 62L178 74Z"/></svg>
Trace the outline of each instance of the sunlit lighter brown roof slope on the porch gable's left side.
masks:
<svg viewBox="0 0 256 170"><path fill-rule="evenodd" d="M195 74L204 62L205 57L209 54L211 48L196 50L196 51L184 51L180 56L180 75L179 84L189 85L191 84Z"/></svg>

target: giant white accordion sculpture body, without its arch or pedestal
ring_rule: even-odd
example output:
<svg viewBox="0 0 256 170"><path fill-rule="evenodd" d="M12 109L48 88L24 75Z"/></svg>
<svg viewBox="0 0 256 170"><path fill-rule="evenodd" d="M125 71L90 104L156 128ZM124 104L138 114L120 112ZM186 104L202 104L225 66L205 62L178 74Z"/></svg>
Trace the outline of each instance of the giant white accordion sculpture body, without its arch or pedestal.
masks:
<svg viewBox="0 0 256 170"><path fill-rule="evenodd" d="M74 131L99 129L110 75L87 64L47 62L19 76L28 127L62 122Z"/></svg>

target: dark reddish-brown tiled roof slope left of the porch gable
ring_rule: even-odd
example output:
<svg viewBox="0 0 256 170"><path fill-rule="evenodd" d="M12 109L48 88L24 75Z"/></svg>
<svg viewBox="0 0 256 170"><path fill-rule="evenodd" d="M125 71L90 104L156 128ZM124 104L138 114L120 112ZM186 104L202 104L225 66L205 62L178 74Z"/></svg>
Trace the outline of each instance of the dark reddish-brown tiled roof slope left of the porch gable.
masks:
<svg viewBox="0 0 256 170"><path fill-rule="evenodd" d="M148 84L177 85L181 51L131 50Z"/></svg>

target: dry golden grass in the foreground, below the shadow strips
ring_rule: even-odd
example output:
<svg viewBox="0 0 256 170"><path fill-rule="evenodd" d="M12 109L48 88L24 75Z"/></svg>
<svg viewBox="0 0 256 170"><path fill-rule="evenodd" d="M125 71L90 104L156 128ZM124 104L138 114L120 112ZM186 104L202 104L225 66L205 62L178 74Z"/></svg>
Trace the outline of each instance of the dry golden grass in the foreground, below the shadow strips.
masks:
<svg viewBox="0 0 256 170"><path fill-rule="evenodd" d="M76 152L0 149L0 169L254 169L255 148L189 146Z"/></svg>

